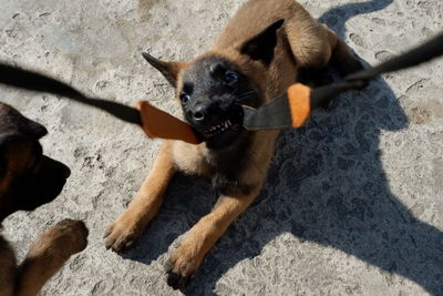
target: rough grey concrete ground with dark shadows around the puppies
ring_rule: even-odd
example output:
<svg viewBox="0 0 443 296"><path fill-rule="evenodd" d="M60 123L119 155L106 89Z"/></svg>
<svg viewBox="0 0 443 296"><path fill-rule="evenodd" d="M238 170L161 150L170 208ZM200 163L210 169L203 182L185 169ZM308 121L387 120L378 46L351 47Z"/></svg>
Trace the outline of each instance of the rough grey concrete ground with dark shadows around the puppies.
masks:
<svg viewBox="0 0 443 296"><path fill-rule="evenodd" d="M89 94L146 99L179 115L165 80L141 57L189 60L245 1L0 0L0 60L43 71ZM439 33L440 0L302 0L377 64ZM3 233L22 258L65 218L90 228L42 295L443 295L443 68L435 60L341 95L286 131L257 202L209 252L184 292L165 283L167 253L215 200L177 176L132 251L103 234L136 192L161 141L64 99L1 88L0 100L44 124L47 154L72 170L64 191Z"/></svg>

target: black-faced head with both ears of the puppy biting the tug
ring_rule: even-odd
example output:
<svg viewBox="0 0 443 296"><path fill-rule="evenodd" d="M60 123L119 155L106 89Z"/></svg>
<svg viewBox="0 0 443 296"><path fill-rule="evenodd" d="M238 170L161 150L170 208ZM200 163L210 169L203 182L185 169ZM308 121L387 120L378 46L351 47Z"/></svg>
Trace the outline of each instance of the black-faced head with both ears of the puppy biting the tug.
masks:
<svg viewBox="0 0 443 296"><path fill-rule="evenodd" d="M176 89L186 121L209 149L224 149L244 132L241 105L264 103L266 68L274 59L279 20L250 40L190 63L143 57Z"/></svg>

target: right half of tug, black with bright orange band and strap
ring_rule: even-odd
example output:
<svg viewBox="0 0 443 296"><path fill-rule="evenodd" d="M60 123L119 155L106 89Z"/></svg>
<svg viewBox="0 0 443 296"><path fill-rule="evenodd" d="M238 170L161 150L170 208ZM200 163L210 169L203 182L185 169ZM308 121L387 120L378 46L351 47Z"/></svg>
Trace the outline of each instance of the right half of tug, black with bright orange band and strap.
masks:
<svg viewBox="0 0 443 296"><path fill-rule="evenodd" d="M443 34L440 34L378 67L350 74L341 82L317 89L296 83L286 93L257 110L245 106L244 126L248 130L299 127L308 120L312 110L327 104L338 94L348 90L361 90L380 74L411 68L442 54Z"/></svg>

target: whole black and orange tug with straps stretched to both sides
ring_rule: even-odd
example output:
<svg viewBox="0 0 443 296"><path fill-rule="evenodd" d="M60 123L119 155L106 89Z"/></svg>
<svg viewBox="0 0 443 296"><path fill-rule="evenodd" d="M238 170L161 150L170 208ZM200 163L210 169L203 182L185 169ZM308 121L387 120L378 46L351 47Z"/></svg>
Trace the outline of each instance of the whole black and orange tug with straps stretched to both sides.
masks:
<svg viewBox="0 0 443 296"><path fill-rule="evenodd" d="M300 127L315 109L327 104L341 92L360 90L380 74L414 67L441 54L443 54L443 34L378 67L348 75L338 83L317 89L311 89L301 83L292 84L286 93L257 110L243 106L245 113L244 127L253 131ZM103 99L89 98L63 82L3 63L0 63L0 83L62 95L102 109L125 122L141 125L148 137L179 140L190 144L203 142L189 124L146 101L138 101L136 109L134 109Z"/></svg>

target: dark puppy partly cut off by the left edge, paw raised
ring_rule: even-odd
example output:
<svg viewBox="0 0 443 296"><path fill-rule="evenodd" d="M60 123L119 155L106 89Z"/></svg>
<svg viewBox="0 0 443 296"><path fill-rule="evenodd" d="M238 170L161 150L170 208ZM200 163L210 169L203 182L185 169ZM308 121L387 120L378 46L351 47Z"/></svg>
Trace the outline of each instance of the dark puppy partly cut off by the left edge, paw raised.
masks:
<svg viewBox="0 0 443 296"><path fill-rule="evenodd" d="M54 200L70 170L42 153L47 129L0 103L0 226L10 214ZM41 234L18 266L12 248L0 236L0 296L37 295L68 258L86 247L83 222L64 220Z"/></svg>

